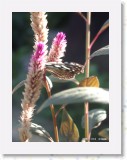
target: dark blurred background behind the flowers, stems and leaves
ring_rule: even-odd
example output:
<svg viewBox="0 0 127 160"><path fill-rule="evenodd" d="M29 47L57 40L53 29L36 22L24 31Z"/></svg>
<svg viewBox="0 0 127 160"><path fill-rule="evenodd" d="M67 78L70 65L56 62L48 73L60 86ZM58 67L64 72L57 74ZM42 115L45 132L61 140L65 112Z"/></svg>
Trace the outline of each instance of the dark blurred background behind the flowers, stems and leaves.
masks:
<svg viewBox="0 0 127 160"><path fill-rule="evenodd" d="M66 12L54 12L48 14L48 28L49 28L49 42L48 49L50 49L51 43L57 32L64 32L67 39L67 48L64 61L77 62L84 64L85 62L85 37L86 27L85 21L77 13ZM86 13L84 13L86 15ZM104 22L109 18L108 12L95 12L91 17L91 40L99 31ZM91 53L100 49L101 47L109 44L109 30L107 29L95 42ZM26 13L12 13L12 67L13 67L13 87L20 81L26 79L29 60L33 51L34 40L33 31L30 26L30 14ZM109 88L109 57L100 56L91 60L90 75L95 75L100 81L100 87ZM84 75L76 77L78 80L82 80ZM52 93L59 92L64 89L75 87L71 82L69 83L54 83ZM13 141L19 141L18 139L18 127L19 118L21 112L21 98L23 87L20 88L13 95ZM47 99L45 89L42 90L41 97L37 102L37 107ZM56 111L59 106L55 106ZM90 110L95 108L104 108L107 113L108 107L105 105L90 104ZM67 111L76 123L80 132L80 141L84 137L84 129L81 127L81 119L83 116L83 103L73 104L67 106ZM33 117L33 122L42 125L53 136L52 117L50 109L43 110L39 115ZM58 127L61 122L61 113L58 116ZM92 137L98 137L98 132L107 128L109 125L108 118L102 123L100 127L94 129Z"/></svg>

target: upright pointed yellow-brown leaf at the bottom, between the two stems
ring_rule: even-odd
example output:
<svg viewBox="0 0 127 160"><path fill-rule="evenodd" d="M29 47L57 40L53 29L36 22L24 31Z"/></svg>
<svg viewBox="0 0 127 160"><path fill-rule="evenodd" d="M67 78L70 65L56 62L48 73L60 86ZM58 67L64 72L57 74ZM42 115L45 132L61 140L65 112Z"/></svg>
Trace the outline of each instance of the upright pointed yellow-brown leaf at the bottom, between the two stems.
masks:
<svg viewBox="0 0 127 160"><path fill-rule="evenodd" d="M66 109L63 109L60 139L64 142L78 142L79 140L78 128Z"/></svg>

